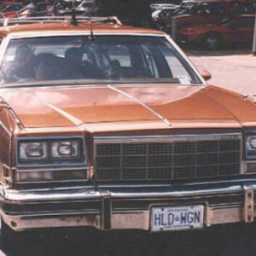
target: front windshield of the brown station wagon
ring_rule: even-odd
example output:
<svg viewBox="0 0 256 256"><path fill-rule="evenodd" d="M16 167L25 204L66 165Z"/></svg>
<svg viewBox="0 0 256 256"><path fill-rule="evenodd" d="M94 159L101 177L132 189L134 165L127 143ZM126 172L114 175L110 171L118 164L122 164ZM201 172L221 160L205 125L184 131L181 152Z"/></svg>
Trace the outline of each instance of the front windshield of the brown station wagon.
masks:
<svg viewBox="0 0 256 256"><path fill-rule="evenodd" d="M200 79L163 37L63 36L10 41L2 86L39 84L175 83Z"/></svg>

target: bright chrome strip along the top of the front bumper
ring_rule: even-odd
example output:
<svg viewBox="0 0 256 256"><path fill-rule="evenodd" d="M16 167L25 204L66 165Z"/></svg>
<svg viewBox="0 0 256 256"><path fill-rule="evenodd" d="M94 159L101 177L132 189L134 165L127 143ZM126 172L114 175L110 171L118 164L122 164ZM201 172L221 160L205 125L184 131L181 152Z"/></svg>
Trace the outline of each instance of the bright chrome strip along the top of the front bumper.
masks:
<svg viewBox="0 0 256 256"><path fill-rule="evenodd" d="M251 185L253 190L256 190L256 183ZM191 189L188 191L179 191L166 189L161 192L112 192L108 191L108 195L114 199L151 199L151 198L166 198L182 196L208 196L208 195L228 195L228 194L240 194L244 189L241 185L234 185L228 188L219 189ZM94 189L66 189L63 191L49 190L45 191L18 191L13 189L0 189L0 197L4 201L10 201L12 204L20 203L40 203L42 201L79 201L79 200L102 200L102 196L106 195L106 190L94 190Z"/></svg>

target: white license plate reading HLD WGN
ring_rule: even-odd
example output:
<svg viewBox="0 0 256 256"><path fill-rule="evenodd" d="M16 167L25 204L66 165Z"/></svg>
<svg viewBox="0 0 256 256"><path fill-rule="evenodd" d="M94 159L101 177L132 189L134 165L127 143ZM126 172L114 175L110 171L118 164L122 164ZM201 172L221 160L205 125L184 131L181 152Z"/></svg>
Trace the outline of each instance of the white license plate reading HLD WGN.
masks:
<svg viewBox="0 0 256 256"><path fill-rule="evenodd" d="M151 231L201 229L203 225L203 206L151 208Z"/></svg>

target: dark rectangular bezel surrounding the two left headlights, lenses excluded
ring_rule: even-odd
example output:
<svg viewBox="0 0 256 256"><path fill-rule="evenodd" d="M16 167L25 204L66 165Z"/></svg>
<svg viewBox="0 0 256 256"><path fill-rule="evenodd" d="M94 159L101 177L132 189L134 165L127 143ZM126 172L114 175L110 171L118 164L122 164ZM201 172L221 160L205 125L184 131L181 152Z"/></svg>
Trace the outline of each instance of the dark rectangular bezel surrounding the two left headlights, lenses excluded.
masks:
<svg viewBox="0 0 256 256"><path fill-rule="evenodd" d="M78 144L78 155L75 157L59 157L54 158L52 155L52 143L75 142ZM20 145L30 143L46 143L47 157L45 159L37 159L32 157L20 158ZM26 155L27 156L27 155ZM87 164L87 152L82 136L67 137L17 137L16 139L16 165L17 166L81 166Z"/></svg>

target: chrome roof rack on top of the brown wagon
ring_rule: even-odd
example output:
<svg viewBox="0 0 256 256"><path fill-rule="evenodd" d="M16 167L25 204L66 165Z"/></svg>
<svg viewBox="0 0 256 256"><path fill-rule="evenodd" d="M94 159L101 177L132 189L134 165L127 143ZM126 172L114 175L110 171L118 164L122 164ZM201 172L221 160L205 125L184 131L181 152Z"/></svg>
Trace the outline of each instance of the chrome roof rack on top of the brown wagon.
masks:
<svg viewBox="0 0 256 256"><path fill-rule="evenodd" d="M76 16L76 20L80 23L112 23L122 25L121 21L116 16L109 17L86 17ZM0 26L12 26L16 24L30 24L30 23L61 23L71 22L71 16L36 16L36 17L18 17L11 19L1 19Z"/></svg>

